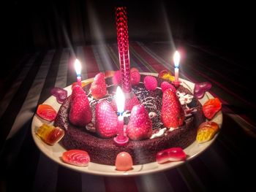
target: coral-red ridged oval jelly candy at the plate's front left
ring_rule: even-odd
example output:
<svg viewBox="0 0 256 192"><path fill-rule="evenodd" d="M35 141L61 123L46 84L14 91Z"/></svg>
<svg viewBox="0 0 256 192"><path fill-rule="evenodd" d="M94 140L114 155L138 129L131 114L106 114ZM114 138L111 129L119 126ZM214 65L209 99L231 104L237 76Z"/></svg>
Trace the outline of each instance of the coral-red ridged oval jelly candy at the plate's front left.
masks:
<svg viewBox="0 0 256 192"><path fill-rule="evenodd" d="M62 160L75 166L88 166L90 156L85 150L67 150L62 153Z"/></svg>

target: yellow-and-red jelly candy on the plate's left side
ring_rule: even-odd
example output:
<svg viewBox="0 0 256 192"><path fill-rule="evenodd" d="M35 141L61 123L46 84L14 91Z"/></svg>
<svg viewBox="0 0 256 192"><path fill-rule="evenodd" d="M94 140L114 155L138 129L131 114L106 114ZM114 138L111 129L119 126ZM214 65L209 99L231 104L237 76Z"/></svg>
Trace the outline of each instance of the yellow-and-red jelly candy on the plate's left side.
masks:
<svg viewBox="0 0 256 192"><path fill-rule="evenodd" d="M54 145L64 137L64 130L43 123L36 131L37 135L48 145Z"/></svg>

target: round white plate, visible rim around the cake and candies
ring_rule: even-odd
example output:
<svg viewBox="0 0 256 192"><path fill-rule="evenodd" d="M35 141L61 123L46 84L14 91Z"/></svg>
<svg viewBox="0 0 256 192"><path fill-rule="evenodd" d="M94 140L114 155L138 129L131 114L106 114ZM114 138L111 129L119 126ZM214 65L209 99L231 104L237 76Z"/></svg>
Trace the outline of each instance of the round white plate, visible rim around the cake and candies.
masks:
<svg viewBox="0 0 256 192"><path fill-rule="evenodd" d="M151 73L141 73L141 74L151 74ZM151 74L157 76L157 74ZM93 78L89 80L85 80L84 82L90 82ZM184 87L189 86L190 90L194 90L195 84L192 82L189 82L187 80L180 79L183 83ZM71 93L71 85L69 85L67 88L65 88L68 91L68 95ZM200 99L200 102L204 104L208 99L214 98L210 93L206 92L203 99ZM50 96L44 104L50 104L56 111L59 110L59 107L61 104L59 104L56 101L56 98L54 96ZM219 124L219 127L222 126L222 112L217 112L217 115L214 116L212 121ZM115 166L108 166L108 165L102 165L102 164L94 164L89 163L89 166L73 166L71 164L65 164L63 161L61 161L61 155L64 151L64 147L59 145L57 143L56 145L50 146L46 145L45 142L42 142L39 137L37 137L37 134L35 133L35 130L42 125L42 123L48 123L45 120L42 120L42 118L39 118L37 115L34 115L34 118L32 120L31 124L31 133L32 137L34 139L34 142L36 143L37 147L39 147L39 150L42 151L42 153L45 153L45 155L48 156L51 160L55 161L56 163L60 164L61 166L65 166L69 169L73 169L78 172L84 172L89 174L98 174L98 175L105 175L105 176L132 176L132 175L139 175L139 174L148 174L153 172L159 172L163 171L165 169L171 169L176 166L179 166L181 164L184 164L184 161L176 161L176 162L170 162L167 164L157 164L157 162L150 163L150 164L141 164L141 165L135 165L133 166L132 170L129 170L127 172L120 172L116 171ZM212 142L216 139L217 135L215 135L214 139L211 139L208 142L204 142L202 144L198 144L197 142L193 142L192 145L189 145L186 149L184 149L185 153L187 153L188 158L187 161L191 160L192 158L195 158L197 155L203 152L203 150L206 150L207 147L211 145Z"/></svg>

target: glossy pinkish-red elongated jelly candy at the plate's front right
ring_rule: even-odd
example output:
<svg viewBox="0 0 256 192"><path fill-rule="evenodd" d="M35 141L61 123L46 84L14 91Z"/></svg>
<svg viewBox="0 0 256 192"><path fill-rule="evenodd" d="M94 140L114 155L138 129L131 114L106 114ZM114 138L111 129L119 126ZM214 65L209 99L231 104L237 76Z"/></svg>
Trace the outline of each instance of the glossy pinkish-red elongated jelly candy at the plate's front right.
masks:
<svg viewBox="0 0 256 192"><path fill-rule="evenodd" d="M157 153L157 163L164 164L167 161L184 161L187 155L181 147L172 147Z"/></svg>

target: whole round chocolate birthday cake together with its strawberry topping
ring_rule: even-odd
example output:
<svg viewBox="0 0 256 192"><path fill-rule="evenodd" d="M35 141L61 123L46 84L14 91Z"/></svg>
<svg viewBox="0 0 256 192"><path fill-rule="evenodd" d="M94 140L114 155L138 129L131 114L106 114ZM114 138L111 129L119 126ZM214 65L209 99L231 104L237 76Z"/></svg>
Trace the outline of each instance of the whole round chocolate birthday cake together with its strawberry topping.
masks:
<svg viewBox="0 0 256 192"><path fill-rule="evenodd" d="M117 130L113 128L116 127L117 120L114 99L117 85L113 85L113 77L105 78L107 91L104 96L99 96L100 99L97 99L98 95L91 90L94 82L83 88L89 101L89 108L85 108L85 110L88 110L86 114L87 118L89 116L89 120L84 124L80 120L72 118L71 114L74 110L81 110L78 107L80 104L76 104L77 101L72 98L73 93L64 101L54 122L54 126L58 126L65 131L64 137L61 139L61 145L67 150L85 150L89 153L91 162L114 165L116 156L121 152L129 153L132 156L133 164L146 164L156 161L156 155L161 150L169 147L184 149L195 142L197 127L206 120L200 102L184 85L179 85L176 89L171 85L171 82L158 77L153 77L157 80L157 86L152 91L151 88L147 88L147 86L152 86L152 82L149 84L145 82L147 77L151 78L151 76L141 74L138 85L132 85L132 93L135 97L132 102L127 103L124 111L124 127L126 127L124 130L126 130L125 134L129 137L129 142L126 145L116 145L113 140L113 137L116 137L117 134ZM145 83L148 85L145 85ZM170 88L168 86L165 88L165 83ZM166 90L163 91L162 89ZM173 97L174 94L178 102ZM74 107L78 108L75 109ZM171 112L169 112L169 109ZM145 126L143 122L138 127L130 125L131 119L132 121L141 120L136 119L140 116L140 112L146 112L147 117L143 119L143 122L149 124L149 126ZM173 112L177 118L173 118ZM105 118L103 123L101 122L102 114ZM115 117L113 118L112 115ZM75 116L79 115L75 114ZM85 114L83 120L86 120ZM102 124L105 125L101 126ZM134 131L140 128L143 130Z"/></svg>

